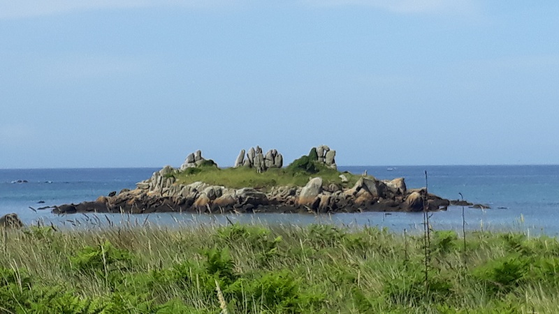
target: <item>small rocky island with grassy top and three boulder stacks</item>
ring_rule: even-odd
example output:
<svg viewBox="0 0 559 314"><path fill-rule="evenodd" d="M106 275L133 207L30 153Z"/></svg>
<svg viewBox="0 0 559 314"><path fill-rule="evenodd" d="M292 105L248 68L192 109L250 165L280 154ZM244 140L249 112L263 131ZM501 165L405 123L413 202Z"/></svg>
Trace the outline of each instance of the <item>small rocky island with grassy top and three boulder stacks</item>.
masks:
<svg viewBox="0 0 559 314"><path fill-rule="evenodd" d="M408 189L404 178L378 180L368 174L339 172L335 151L325 145L283 167L275 149L242 149L234 167L219 168L201 151L179 168L165 166L136 189L123 189L93 202L54 207L55 214L154 212L339 213L360 211L438 211L449 200Z"/></svg>

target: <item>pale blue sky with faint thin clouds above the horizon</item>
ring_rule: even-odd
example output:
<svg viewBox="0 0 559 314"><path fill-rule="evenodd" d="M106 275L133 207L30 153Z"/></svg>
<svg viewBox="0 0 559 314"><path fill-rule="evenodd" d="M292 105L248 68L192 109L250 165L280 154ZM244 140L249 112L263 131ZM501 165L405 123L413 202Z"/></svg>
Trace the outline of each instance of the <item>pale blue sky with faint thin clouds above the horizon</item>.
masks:
<svg viewBox="0 0 559 314"><path fill-rule="evenodd" d="M559 1L0 0L0 168L559 163Z"/></svg>

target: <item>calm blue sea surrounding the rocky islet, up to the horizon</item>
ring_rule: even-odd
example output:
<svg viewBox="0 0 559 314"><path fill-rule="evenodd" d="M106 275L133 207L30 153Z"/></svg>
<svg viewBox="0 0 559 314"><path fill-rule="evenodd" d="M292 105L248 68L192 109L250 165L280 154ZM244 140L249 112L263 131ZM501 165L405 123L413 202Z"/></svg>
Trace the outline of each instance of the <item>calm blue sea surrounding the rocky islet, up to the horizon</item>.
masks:
<svg viewBox="0 0 559 314"><path fill-rule="evenodd" d="M357 214L52 214L59 204L95 200L99 195L151 177L156 168L0 169L0 216L15 213L27 225L57 227L160 227L266 223L342 227L371 226L393 232L421 232L422 213L364 212ZM377 179L404 177L408 188L428 186L449 200L485 204L489 209L449 207L429 214L435 230L514 231L559 235L559 165L426 165L338 167Z"/></svg>

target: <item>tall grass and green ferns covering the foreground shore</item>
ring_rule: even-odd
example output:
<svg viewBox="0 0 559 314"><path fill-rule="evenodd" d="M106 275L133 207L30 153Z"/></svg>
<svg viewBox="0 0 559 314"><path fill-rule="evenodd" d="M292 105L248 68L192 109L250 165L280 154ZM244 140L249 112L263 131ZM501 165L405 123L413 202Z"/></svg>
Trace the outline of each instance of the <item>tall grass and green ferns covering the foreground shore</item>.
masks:
<svg viewBox="0 0 559 314"><path fill-rule="evenodd" d="M0 313L554 313L559 242L201 225L6 232Z"/></svg>

